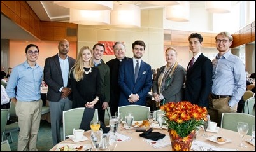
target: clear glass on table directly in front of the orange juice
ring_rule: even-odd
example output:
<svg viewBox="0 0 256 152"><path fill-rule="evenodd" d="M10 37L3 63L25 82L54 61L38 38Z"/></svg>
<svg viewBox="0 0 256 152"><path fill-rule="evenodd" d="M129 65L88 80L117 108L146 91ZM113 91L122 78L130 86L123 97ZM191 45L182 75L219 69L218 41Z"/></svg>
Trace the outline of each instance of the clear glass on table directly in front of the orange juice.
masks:
<svg viewBox="0 0 256 152"><path fill-rule="evenodd" d="M103 130L99 128L99 130L91 130L90 140L92 141L92 145L98 151L101 146L101 141L103 139Z"/></svg>

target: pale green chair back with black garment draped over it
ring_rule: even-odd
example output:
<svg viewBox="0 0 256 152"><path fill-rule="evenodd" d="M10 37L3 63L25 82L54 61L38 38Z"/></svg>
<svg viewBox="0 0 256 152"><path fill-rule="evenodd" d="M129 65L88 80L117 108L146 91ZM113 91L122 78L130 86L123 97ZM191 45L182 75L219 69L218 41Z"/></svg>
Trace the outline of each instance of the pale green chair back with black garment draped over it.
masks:
<svg viewBox="0 0 256 152"><path fill-rule="evenodd" d="M63 111L63 139L66 139L66 136L73 135L73 129L79 129L80 124L83 118L83 112L85 107L78 107L74 109L69 109ZM94 111L93 120L98 120L97 109Z"/></svg>

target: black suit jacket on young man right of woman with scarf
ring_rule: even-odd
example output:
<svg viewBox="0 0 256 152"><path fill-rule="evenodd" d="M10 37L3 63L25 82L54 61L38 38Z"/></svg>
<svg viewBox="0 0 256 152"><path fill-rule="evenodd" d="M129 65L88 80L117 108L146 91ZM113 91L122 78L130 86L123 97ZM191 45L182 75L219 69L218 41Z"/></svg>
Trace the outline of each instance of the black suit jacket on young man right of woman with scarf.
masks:
<svg viewBox="0 0 256 152"><path fill-rule="evenodd" d="M187 70L184 100L202 107L209 107L208 96L211 93L213 64L203 53L193 66Z"/></svg>

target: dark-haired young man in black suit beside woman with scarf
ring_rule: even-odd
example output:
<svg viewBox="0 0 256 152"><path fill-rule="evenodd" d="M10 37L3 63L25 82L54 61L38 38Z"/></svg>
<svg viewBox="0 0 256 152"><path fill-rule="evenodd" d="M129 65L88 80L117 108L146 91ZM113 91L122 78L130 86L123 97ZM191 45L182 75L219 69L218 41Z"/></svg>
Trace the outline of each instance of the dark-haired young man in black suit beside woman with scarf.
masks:
<svg viewBox="0 0 256 152"><path fill-rule="evenodd" d="M201 34L190 34L188 41L189 48L193 53L193 58L188 63L187 67L184 100L208 108L213 64L211 60L201 52L203 42L203 36L201 36Z"/></svg>

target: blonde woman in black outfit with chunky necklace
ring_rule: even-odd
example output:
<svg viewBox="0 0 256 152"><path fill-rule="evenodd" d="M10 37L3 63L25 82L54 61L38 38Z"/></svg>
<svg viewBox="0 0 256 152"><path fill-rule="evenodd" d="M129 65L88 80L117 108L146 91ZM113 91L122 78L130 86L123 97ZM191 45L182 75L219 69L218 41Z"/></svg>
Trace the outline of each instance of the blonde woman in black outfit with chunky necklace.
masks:
<svg viewBox="0 0 256 152"><path fill-rule="evenodd" d="M101 97L99 69L93 66L92 49L83 46L69 74L73 92L72 108L89 107L97 109Z"/></svg>

